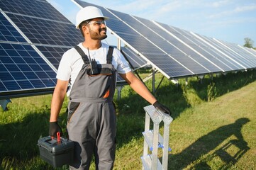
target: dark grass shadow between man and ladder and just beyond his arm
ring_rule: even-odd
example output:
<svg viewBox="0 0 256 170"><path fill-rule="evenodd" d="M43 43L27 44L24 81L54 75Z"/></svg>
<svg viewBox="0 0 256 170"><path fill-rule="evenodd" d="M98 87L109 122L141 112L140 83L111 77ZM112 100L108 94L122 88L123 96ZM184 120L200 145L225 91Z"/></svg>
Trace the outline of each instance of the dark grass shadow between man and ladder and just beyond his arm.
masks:
<svg viewBox="0 0 256 170"><path fill-rule="evenodd" d="M145 111L143 107L150 105L133 90L126 91L126 96L115 101L117 108L117 148L126 145L132 139L142 137L145 130ZM172 111L172 118L177 118L190 105L184 98L182 88L165 79L155 94L157 100ZM152 123L151 123L152 124Z"/></svg>

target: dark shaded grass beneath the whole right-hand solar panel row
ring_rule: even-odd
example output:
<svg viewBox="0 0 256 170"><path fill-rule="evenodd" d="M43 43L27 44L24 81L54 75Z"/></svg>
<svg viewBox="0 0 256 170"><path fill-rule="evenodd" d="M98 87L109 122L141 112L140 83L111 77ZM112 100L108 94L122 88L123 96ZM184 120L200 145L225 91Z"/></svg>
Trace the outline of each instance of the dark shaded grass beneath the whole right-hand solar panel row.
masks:
<svg viewBox="0 0 256 170"><path fill-rule="evenodd" d="M256 80L256 71L249 70L247 72L229 73L214 77L211 79L204 79L202 84L199 81L189 81L189 85L186 89L192 88L196 92L196 95L203 101L208 100L208 85L213 84L212 91L214 97L222 96L230 91L235 91L243 86ZM149 81L147 86L151 89L152 82ZM212 90L213 90L212 89ZM122 92L123 93L123 92ZM167 106L172 111L172 118L177 118L191 105L188 103L188 99L184 96L184 86L176 86L171 81L164 79L157 90L155 97L162 104ZM215 93L215 94L214 94ZM145 111L144 106L148 106L150 103L141 98L138 94L135 94L133 90L129 89L122 96L120 101L116 101L117 113L118 113L118 126L117 126L117 147L122 147L126 143L130 142L133 138L141 137L141 132L144 131L145 123ZM211 96L211 97L213 97Z"/></svg>

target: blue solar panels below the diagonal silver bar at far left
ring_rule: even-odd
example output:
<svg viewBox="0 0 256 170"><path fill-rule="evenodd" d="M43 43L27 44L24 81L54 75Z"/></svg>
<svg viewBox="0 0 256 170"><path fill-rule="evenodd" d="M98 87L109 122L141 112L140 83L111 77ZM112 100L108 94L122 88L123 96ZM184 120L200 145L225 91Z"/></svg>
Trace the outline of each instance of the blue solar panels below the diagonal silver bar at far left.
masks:
<svg viewBox="0 0 256 170"><path fill-rule="evenodd" d="M0 13L0 20L0 98L52 90L55 71L18 33L4 13Z"/></svg>

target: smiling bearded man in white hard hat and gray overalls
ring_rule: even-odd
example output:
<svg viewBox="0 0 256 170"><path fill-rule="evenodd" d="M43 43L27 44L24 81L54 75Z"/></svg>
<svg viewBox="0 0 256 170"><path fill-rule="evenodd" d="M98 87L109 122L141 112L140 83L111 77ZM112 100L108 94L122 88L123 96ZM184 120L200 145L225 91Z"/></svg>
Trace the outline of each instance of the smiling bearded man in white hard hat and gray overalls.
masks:
<svg viewBox="0 0 256 170"><path fill-rule="evenodd" d="M105 17L99 8L87 6L77 13L76 28L84 42L62 56L57 72L57 84L52 96L51 136L61 132L57 117L67 91L69 96L67 132L75 142L74 162L69 169L89 169L94 154L96 169L113 169L116 152L116 113L113 94L116 72L156 108L170 113L162 106L133 72L121 52L101 42L106 35Z"/></svg>

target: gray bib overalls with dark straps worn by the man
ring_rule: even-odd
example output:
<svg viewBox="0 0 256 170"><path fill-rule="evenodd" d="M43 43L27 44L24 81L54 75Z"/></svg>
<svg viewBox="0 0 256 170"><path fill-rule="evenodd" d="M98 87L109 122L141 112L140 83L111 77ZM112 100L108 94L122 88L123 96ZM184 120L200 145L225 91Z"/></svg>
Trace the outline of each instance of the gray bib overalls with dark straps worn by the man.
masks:
<svg viewBox="0 0 256 170"><path fill-rule="evenodd" d="M69 169L89 169L94 154L96 169L113 169L116 152L116 112L113 94L116 70L112 65L113 47L107 64L97 64L99 74L91 75L87 55L78 46L84 65L69 96L67 131L75 142L74 163Z"/></svg>

